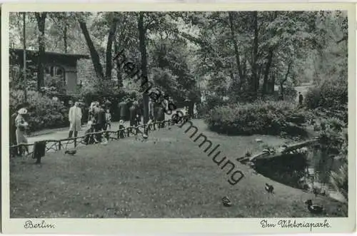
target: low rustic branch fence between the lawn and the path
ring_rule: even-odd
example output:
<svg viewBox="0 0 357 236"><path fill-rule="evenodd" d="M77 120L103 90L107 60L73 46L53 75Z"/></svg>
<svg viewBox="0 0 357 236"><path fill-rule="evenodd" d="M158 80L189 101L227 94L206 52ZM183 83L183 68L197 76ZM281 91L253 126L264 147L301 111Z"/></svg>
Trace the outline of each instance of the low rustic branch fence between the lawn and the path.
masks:
<svg viewBox="0 0 357 236"><path fill-rule="evenodd" d="M188 120L188 117L183 117L181 122L184 120ZM89 137L91 135L99 135L102 134L106 140L119 140L122 138L130 137L131 135L135 136L137 138L137 135L139 133L150 133L154 130L159 130L160 128L166 128L168 126L174 125L173 120L163 120L163 121L156 121L153 123L144 124L144 125L138 125L138 126L129 126L126 128L122 128L116 131L111 131L111 130L102 130L99 132L94 132L94 133L85 133L82 136L77 136L74 138L63 138L59 140L41 140L42 142L46 142L46 150L45 153L49 152L56 152L61 149L68 149L68 148L77 148L79 145L86 145L84 143L83 139L86 137ZM143 129L143 130L141 130ZM121 135L123 134L124 131L124 136ZM73 145L72 145L73 144ZM29 153L27 153L27 156L33 156L34 158L34 145L35 143L19 143L17 145L11 145L10 146L10 158L13 158L16 153L17 149L21 147L27 147L29 150ZM32 150L30 150L32 149ZM36 158L36 163L41 163L41 158Z"/></svg>

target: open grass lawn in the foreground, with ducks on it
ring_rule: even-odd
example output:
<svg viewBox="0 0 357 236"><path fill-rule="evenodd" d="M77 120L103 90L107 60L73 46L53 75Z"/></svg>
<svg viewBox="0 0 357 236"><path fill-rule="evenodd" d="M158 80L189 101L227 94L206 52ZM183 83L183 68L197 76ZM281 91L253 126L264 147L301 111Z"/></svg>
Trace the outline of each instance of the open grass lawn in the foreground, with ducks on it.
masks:
<svg viewBox="0 0 357 236"><path fill-rule="evenodd" d="M221 144L221 155L244 173L241 182L230 185L226 170L173 127L144 142L126 138L81 147L75 156L49 153L41 165L11 160L11 217L314 217L306 199L321 203L330 217L343 216L340 203L274 183L235 160L246 150L261 150L256 138L268 145L286 140L218 135L201 120L193 122L213 145ZM273 183L276 193L266 193L265 183ZM231 207L222 205L226 195Z"/></svg>

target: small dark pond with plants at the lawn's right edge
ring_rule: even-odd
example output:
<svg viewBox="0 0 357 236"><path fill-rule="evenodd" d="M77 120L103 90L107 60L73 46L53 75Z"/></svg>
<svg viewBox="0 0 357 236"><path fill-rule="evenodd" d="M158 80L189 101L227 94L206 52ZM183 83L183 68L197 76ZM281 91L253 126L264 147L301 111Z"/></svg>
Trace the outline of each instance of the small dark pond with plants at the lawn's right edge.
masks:
<svg viewBox="0 0 357 236"><path fill-rule="evenodd" d="M345 202L343 195L331 186L331 172L338 172L343 160L319 144L310 144L290 153L254 160L257 173L293 188L327 195Z"/></svg>

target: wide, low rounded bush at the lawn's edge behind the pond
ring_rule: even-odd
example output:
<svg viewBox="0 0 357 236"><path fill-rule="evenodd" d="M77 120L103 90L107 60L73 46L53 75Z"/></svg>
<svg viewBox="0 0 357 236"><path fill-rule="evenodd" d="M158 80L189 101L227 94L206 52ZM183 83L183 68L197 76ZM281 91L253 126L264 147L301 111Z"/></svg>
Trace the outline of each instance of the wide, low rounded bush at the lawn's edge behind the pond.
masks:
<svg viewBox="0 0 357 236"><path fill-rule="evenodd" d="M211 130L228 135L270 134L306 135L299 125L306 118L293 122L292 117L303 112L296 110L293 103L284 101L234 104L216 106L208 112L206 123ZM289 121L290 120L290 121Z"/></svg>

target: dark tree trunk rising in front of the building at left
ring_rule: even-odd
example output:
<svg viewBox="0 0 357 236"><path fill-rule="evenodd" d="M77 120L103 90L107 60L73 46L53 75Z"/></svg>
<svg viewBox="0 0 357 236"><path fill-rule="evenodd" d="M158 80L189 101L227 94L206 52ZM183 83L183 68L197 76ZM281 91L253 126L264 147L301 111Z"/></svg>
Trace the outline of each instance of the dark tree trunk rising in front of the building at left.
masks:
<svg viewBox="0 0 357 236"><path fill-rule="evenodd" d="M41 91L44 86L44 56L45 56L45 24L46 12L36 12L37 26L39 27L39 61L37 63L37 91Z"/></svg>

